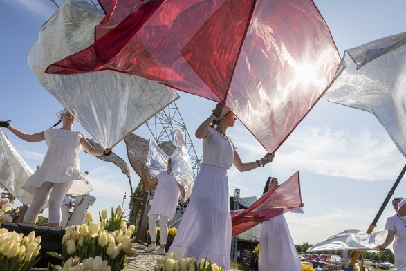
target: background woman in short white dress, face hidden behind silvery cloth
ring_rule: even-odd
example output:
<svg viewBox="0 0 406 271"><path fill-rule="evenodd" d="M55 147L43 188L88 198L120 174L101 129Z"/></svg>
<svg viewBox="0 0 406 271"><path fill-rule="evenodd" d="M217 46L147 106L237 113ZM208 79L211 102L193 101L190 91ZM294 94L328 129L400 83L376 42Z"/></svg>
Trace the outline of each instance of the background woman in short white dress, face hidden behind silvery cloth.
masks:
<svg viewBox="0 0 406 271"><path fill-rule="evenodd" d="M147 179L150 185L157 185L151 209L148 212L148 230L151 236L151 244L145 247L146 252L164 255L165 245L168 238L168 221L174 217L176 206L178 205L179 193L185 197L183 186L178 184L172 172L172 162L168 160L168 170L161 171L154 178L151 177L147 168ZM160 247L156 248L156 221L160 226Z"/></svg>

